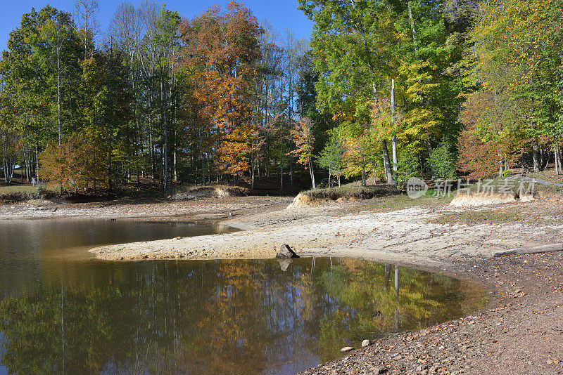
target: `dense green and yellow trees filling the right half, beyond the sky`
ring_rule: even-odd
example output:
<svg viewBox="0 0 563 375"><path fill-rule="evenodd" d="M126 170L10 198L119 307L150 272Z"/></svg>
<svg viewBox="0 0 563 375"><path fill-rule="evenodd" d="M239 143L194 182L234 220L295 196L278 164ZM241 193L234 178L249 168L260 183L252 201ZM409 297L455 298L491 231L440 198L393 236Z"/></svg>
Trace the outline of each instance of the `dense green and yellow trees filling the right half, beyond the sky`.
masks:
<svg viewBox="0 0 563 375"><path fill-rule="evenodd" d="M481 178L550 159L560 173L561 1L299 3L317 107L338 121L320 154L334 174Z"/></svg>

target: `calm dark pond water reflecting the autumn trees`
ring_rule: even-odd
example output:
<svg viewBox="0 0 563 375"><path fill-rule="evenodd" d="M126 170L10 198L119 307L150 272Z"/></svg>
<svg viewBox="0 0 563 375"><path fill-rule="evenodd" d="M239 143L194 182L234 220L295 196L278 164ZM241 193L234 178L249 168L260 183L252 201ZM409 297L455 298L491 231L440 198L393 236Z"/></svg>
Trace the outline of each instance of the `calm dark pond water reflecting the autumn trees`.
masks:
<svg viewBox="0 0 563 375"><path fill-rule="evenodd" d="M485 303L473 284L367 261L102 262L86 251L227 230L0 222L0 373L289 374Z"/></svg>

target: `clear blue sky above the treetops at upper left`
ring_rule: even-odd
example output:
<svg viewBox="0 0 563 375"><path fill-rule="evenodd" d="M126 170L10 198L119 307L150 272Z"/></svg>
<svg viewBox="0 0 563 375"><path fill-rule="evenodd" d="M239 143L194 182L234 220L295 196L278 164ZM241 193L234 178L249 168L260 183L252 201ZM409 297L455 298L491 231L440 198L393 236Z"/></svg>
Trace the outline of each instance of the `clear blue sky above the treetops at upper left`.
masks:
<svg viewBox="0 0 563 375"><path fill-rule="evenodd" d="M108 22L115 11L115 7L120 2L121 1L98 0L100 6L98 18L103 31L105 31L108 26ZM139 4L141 0L125 2ZM186 18L191 18L194 15L203 13L210 6L213 6L213 4L219 4L223 9L225 8L225 4L227 4L227 0L157 0L156 2L158 4L166 4L167 8L172 11L177 11ZM267 18L279 32L290 28L298 38L309 39L312 23L305 17L302 11L298 11L297 0L241 0L240 2L250 8L260 22L262 22L264 18ZM74 11L75 8L75 0L3 0L2 3L0 11L0 51L6 49L6 43L9 37L8 34L20 25L23 13L29 12L32 7L38 11L46 4L50 4L55 8L68 12Z"/></svg>

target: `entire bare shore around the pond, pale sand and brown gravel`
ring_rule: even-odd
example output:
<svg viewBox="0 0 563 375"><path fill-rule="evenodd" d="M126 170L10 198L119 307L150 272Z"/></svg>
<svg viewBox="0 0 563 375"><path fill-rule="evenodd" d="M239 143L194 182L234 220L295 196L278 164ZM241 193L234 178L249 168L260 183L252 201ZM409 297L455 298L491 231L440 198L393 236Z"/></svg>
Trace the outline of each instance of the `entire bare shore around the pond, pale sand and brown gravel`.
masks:
<svg viewBox="0 0 563 375"><path fill-rule="evenodd" d="M347 256L443 272L486 284L491 305L460 320L400 334L306 374L563 374L563 254L491 258L493 250L561 243L561 202L483 209L444 204L370 209L358 202L285 209L289 198L0 206L4 218L159 218L222 221L243 231L92 249L106 260L270 258L281 244L302 256ZM415 202L413 202L415 203ZM542 220L441 222L479 210ZM550 218L550 215L552 216ZM552 219L552 220L551 220ZM359 346L359 343L358 343Z"/></svg>

